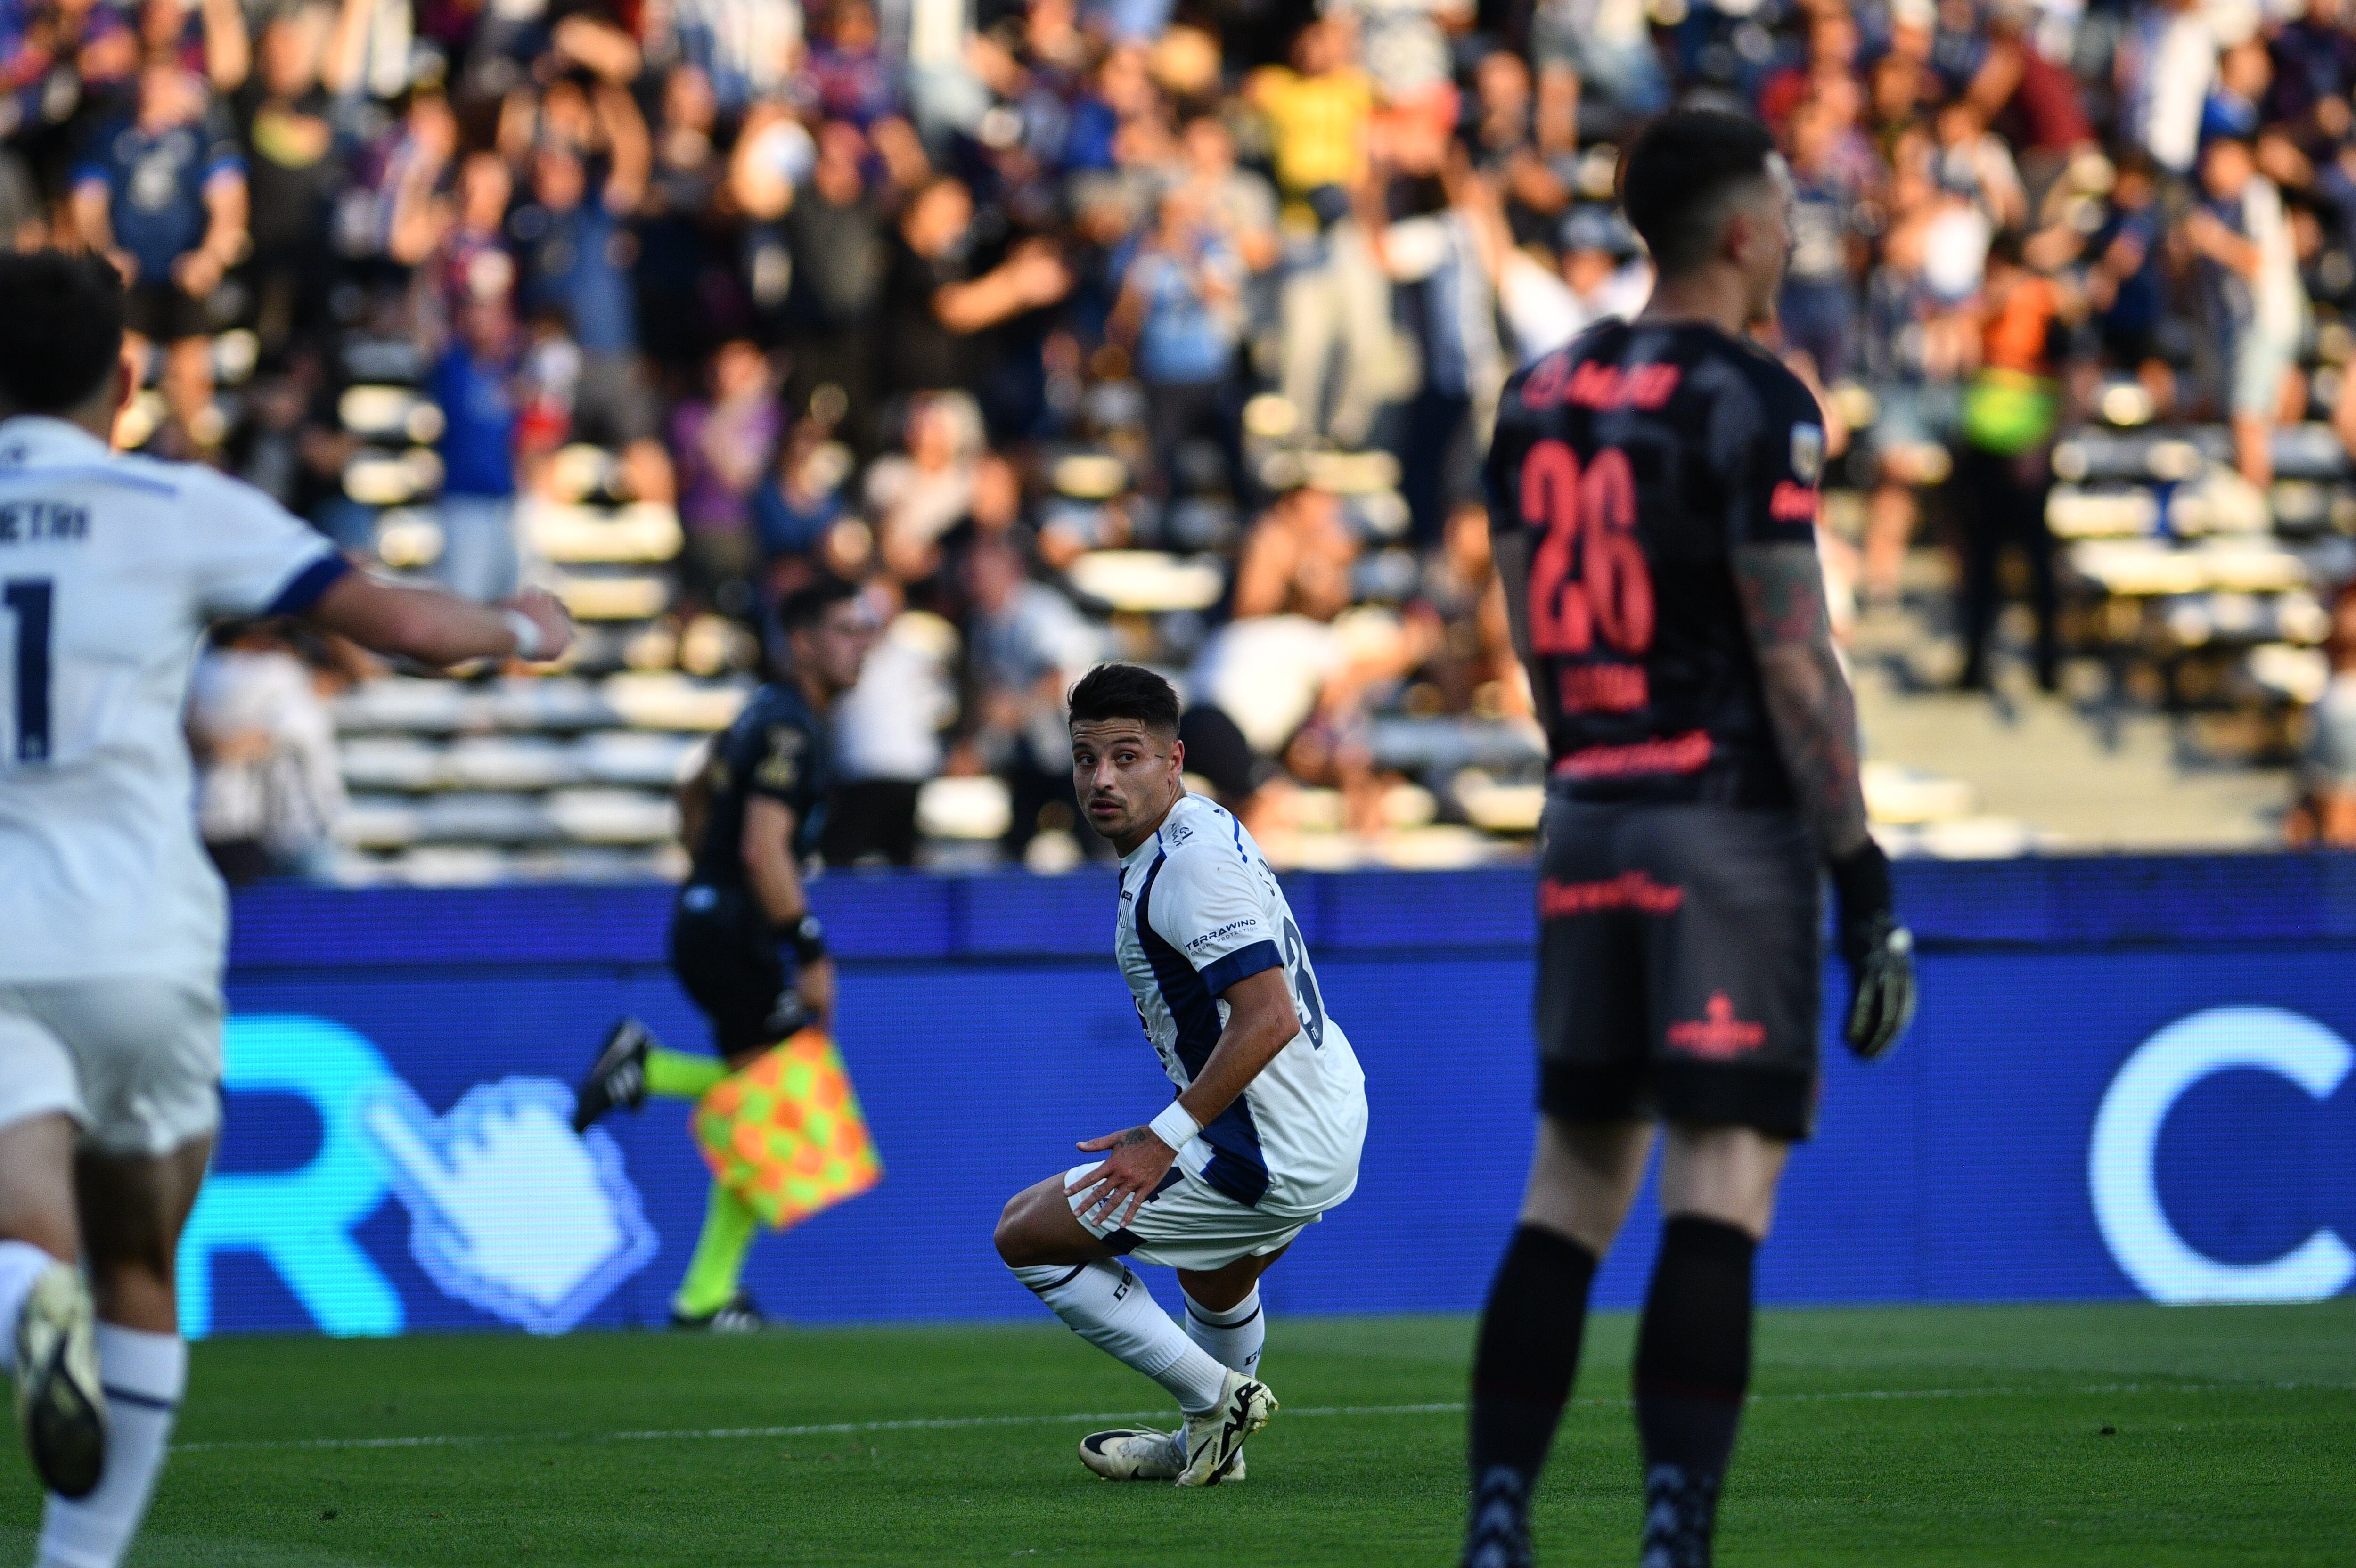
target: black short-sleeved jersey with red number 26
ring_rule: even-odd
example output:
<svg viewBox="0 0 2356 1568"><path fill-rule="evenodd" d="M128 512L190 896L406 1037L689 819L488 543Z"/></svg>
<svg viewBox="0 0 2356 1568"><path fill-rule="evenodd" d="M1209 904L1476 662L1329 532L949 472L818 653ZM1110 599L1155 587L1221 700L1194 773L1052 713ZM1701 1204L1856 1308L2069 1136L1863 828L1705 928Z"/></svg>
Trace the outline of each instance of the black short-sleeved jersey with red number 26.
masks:
<svg viewBox="0 0 2356 1568"><path fill-rule="evenodd" d="M1718 327L1612 320L1505 384L1489 525L1529 532L1557 791L1793 803L1732 551L1814 544L1821 469L1816 398Z"/></svg>

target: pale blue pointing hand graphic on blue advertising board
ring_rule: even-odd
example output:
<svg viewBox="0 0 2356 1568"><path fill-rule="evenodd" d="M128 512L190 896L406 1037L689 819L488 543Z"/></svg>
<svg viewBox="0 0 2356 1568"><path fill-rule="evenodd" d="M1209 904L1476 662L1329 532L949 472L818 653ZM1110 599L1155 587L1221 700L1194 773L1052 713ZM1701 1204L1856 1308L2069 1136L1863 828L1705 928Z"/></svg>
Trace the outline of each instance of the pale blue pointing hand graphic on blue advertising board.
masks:
<svg viewBox="0 0 2356 1568"><path fill-rule="evenodd" d="M565 1333L655 1255L655 1231L603 1128L573 1132L551 1078L478 1083L436 1118L391 1078L360 1104L410 1253L462 1302L542 1335Z"/></svg>

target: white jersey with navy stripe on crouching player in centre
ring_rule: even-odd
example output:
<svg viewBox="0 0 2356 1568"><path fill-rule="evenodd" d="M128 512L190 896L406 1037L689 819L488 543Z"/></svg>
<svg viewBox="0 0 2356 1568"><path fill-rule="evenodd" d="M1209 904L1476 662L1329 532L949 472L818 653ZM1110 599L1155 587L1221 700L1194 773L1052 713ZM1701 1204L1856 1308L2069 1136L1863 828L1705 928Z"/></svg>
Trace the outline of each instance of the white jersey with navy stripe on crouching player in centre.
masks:
<svg viewBox="0 0 2356 1568"><path fill-rule="evenodd" d="M1357 1187L1366 1074L1324 1010L1284 888L1244 824L1185 796L1121 857L1114 956L1162 1071L1185 1090L1227 1026L1220 991L1284 970L1301 1034L1178 1151L1187 1175L1237 1203L1319 1212Z"/></svg>

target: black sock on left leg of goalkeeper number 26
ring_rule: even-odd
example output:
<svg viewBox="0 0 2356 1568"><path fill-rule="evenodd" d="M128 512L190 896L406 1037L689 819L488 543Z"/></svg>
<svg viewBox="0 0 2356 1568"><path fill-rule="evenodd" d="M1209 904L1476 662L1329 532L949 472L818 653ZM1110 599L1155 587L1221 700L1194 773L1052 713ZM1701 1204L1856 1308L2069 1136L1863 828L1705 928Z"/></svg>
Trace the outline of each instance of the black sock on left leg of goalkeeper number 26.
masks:
<svg viewBox="0 0 2356 1568"><path fill-rule="evenodd" d="M1505 1248L1472 1351L1472 1521L1465 1568L1529 1561L1529 1488L1579 1373L1595 1253L1524 1224Z"/></svg>

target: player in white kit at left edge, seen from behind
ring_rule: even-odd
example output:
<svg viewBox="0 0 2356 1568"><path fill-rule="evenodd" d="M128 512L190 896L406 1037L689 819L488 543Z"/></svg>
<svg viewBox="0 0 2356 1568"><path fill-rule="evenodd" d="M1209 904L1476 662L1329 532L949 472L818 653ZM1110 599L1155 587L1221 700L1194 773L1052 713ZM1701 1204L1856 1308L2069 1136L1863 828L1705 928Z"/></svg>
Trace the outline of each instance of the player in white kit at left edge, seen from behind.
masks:
<svg viewBox="0 0 2356 1568"><path fill-rule="evenodd" d="M42 1568L113 1568L186 1382L172 1260L221 1121L229 899L181 737L205 624L299 614L450 666L554 657L563 607L356 572L262 492L115 457L113 268L0 254L0 1347ZM85 1283L87 1269L87 1283Z"/></svg>

